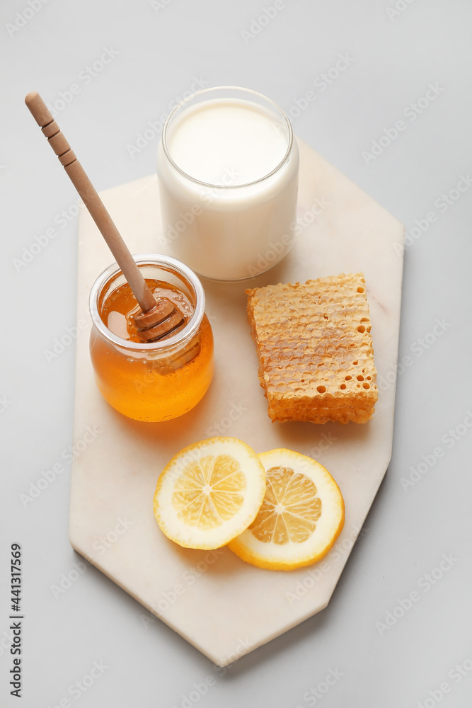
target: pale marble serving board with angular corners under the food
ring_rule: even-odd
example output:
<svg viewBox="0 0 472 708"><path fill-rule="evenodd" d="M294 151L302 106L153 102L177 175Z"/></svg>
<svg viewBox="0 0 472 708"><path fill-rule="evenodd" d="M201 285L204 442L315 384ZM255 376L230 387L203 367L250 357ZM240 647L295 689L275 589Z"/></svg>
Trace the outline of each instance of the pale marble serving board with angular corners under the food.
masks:
<svg viewBox="0 0 472 708"><path fill-rule="evenodd" d="M326 607L391 457L404 229L301 140L299 147L299 233L292 251L251 280L202 279L216 372L193 411L166 423L121 416L96 389L86 333L76 345L74 439L88 442L72 467L71 544L219 666ZM133 253L166 252L156 176L102 196ZM90 324L91 285L112 260L82 207L78 321ZM271 423L258 382L245 288L359 271L366 278L379 374L374 418L347 426ZM161 533L152 510L161 469L185 445L213 435L234 435L257 452L288 447L327 467L343 492L346 518L323 561L299 571L266 571L243 563L229 549L183 549Z"/></svg>

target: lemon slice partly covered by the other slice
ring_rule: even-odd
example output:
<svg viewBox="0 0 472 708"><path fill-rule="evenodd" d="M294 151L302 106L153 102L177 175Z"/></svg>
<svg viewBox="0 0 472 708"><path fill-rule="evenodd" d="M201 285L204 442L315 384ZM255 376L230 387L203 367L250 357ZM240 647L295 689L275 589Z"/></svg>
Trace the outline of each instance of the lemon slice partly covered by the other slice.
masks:
<svg viewBox="0 0 472 708"><path fill-rule="evenodd" d="M344 501L328 470L292 450L258 455L267 489L258 515L229 543L243 561L292 570L321 559L344 525Z"/></svg>

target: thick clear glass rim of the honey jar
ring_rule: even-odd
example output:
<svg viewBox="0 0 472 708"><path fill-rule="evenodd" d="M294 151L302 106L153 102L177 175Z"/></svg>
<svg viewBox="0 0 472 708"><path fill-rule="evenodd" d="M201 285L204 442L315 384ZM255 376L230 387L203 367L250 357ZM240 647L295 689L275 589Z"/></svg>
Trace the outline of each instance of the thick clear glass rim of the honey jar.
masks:
<svg viewBox="0 0 472 708"><path fill-rule="evenodd" d="M198 328L202 323L203 315L205 314L205 290L203 290L200 278L198 278L196 273L194 273L188 265L185 265L182 261L178 261L177 258L172 258L172 256L163 256L158 253L136 253L133 255L133 258L137 265L167 266L168 270L173 269L175 273L182 275L183 279L188 281L195 292L195 311L190 317L190 320L185 327L180 330L180 332L174 334L172 337L147 344L130 342L129 340L122 339L110 331L98 312L98 297L108 280L110 280L113 275L122 273L120 266L116 263L116 261L114 261L111 265L108 265L108 268L105 268L105 270L98 275L98 278L91 287L90 296L88 298L88 307L90 309L92 322L106 340L121 347L122 349L141 352L165 352L167 349L182 343L185 339L188 339L197 333Z"/></svg>

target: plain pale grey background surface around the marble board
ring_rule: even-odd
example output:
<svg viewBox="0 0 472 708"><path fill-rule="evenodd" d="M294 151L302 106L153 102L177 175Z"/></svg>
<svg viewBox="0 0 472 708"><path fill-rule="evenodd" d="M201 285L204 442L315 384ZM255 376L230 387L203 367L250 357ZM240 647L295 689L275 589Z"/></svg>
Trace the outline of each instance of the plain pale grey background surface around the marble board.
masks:
<svg viewBox="0 0 472 708"><path fill-rule="evenodd" d="M65 698L81 708L468 705L472 190L451 193L447 210L434 202L472 169L470 2L285 0L253 36L241 30L257 29L253 21L273 1L30 2L30 18L26 0L5 1L0 11L0 703L18 704L8 695L4 632L9 549L20 542L26 708ZM388 13L395 4L405 9ZM28 16L20 29L9 26L22 23L16 13ZM88 81L83 72L105 48L115 57ZM313 85L346 53L350 66L326 90ZM410 366L398 375L393 457L364 534L325 611L226 671L161 622L144 627L142 607L91 566L72 573L71 587L54 597L80 560L67 540L69 463L61 457L72 444L74 346L50 362L45 356L75 323L76 219L61 227L57 215L74 212L76 194L23 104L28 91L54 103L59 91L79 85L57 120L101 190L154 171L157 135L133 157L127 145L195 76L209 86L256 89L287 111L314 91L299 116L292 110L295 132L408 234L415 219L437 217L425 232L413 231L418 238L405 251L399 357L410 356ZM429 84L444 90L410 120L403 111ZM362 152L398 120L405 130L366 164ZM52 227L57 236L18 265L23 249ZM437 319L441 333L434 333ZM440 458L432 452L438 446ZM422 455L427 471L405 491L401 479ZM21 494L61 459L64 472L25 506ZM443 554L451 561L439 570ZM413 591L419 600L403 617L388 629L377 624L388 612L401 615L399 601ZM108 667L103 675L79 696L68 693L94 661ZM330 670L338 670L335 685L321 698L307 695L318 685L325 690ZM196 700L194 684L208 675L214 684Z"/></svg>

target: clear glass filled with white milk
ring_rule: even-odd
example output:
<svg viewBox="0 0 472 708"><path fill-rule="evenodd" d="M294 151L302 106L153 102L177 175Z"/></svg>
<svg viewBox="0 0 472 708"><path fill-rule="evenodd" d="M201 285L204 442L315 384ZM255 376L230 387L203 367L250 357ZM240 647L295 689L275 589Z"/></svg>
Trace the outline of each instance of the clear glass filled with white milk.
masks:
<svg viewBox="0 0 472 708"><path fill-rule="evenodd" d="M282 108L236 86L179 103L157 156L161 243L200 275L263 273L292 246L299 152Z"/></svg>

